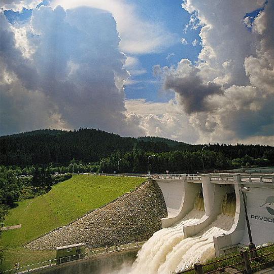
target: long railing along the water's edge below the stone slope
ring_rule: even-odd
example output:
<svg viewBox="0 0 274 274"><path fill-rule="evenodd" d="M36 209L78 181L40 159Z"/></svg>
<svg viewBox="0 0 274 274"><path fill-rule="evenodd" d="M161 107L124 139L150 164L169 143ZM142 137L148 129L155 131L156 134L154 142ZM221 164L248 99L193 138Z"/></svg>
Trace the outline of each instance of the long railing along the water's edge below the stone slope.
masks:
<svg viewBox="0 0 274 274"><path fill-rule="evenodd" d="M79 260L79 259L90 259L90 258L99 256L99 255L102 255L102 254L110 254L113 252L134 250L136 248L142 247L144 245L144 243L145 242L136 242L136 243L129 243L126 245L117 245L117 246L113 246L113 247L98 248L98 249L94 249L94 250L89 250L89 251L85 252L85 254L72 255L72 256L62 257L62 258L58 258L58 259L47 260L44 262L29 264L29 265L17 267L14 269L9 269L9 270L4 271L4 273L7 273L7 274L28 273L28 272L32 272L35 270L51 267L53 265L59 265L64 262L70 262L70 261L75 261L75 260Z"/></svg>

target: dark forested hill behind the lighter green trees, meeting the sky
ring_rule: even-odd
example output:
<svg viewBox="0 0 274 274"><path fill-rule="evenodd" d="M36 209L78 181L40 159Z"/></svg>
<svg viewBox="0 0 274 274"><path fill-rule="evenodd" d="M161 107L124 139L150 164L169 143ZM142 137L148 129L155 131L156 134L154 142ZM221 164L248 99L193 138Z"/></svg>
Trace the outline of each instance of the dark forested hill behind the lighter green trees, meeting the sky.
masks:
<svg viewBox="0 0 274 274"><path fill-rule="evenodd" d="M132 153L132 157L140 153L144 155L148 153L170 155L176 151L200 153L203 146L150 136L121 137L98 129L77 131L43 129L1 136L0 165L66 164L73 159L92 163L110 157L117 160L126 153ZM206 156L205 151L223 155L230 161L248 155L254 159L267 159L270 164L274 164L274 148L271 146L214 144L203 150ZM199 158L199 155L195 157Z"/></svg>

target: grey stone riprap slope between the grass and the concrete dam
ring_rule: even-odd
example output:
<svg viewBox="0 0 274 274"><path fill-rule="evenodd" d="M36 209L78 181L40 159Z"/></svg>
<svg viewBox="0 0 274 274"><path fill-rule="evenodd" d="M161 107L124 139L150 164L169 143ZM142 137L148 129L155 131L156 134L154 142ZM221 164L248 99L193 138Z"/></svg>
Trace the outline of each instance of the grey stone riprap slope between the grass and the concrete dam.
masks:
<svg viewBox="0 0 274 274"><path fill-rule="evenodd" d="M85 243L86 248L146 241L167 216L162 192L153 181L128 192L105 207L45 234L25 245L31 250L53 250Z"/></svg>

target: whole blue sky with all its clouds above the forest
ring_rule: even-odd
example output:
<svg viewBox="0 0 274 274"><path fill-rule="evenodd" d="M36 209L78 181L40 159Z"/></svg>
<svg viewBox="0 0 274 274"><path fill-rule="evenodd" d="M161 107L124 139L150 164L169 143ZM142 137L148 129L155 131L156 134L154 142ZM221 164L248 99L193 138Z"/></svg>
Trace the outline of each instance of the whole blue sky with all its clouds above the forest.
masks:
<svg viewBox="0 0 274 274"><path fill-rule="evenodd" d="M274 145L274 0L0 0L0 135Z"/></svg>

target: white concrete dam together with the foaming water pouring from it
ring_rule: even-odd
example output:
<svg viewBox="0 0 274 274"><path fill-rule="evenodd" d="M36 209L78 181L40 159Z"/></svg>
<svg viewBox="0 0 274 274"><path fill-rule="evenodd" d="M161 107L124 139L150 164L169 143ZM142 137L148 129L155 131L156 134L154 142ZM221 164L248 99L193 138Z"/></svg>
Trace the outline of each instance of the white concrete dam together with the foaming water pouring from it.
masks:
<svg viewBox="0 0 274 274"><path fill-rule="evenodd" d="M102 274L165 274L250 242L273 243L273 174L153 175L151 179L161 189L167 208L162 229L143 245L133 264Z"/></svg>

